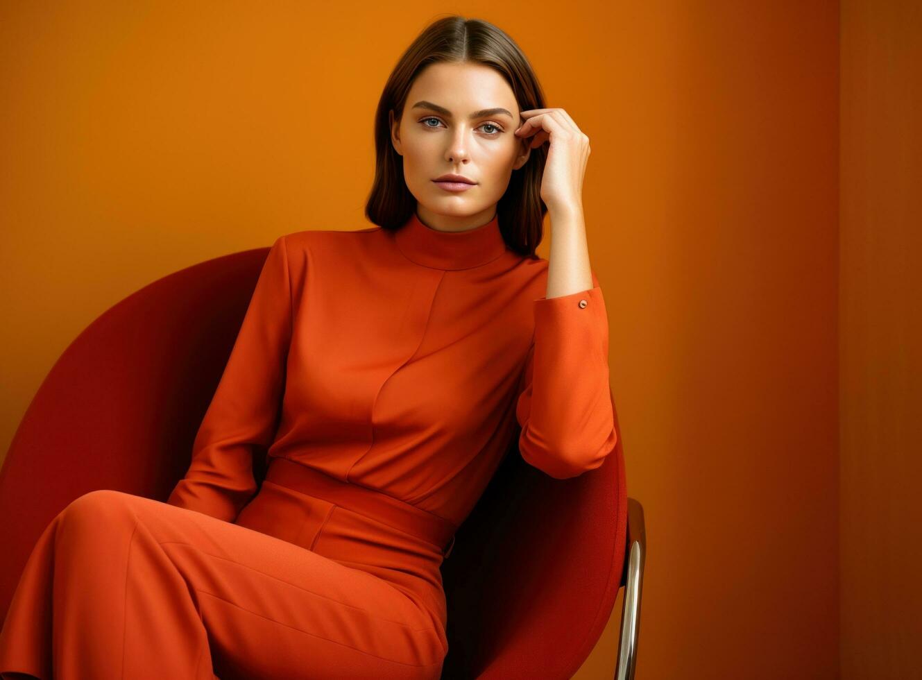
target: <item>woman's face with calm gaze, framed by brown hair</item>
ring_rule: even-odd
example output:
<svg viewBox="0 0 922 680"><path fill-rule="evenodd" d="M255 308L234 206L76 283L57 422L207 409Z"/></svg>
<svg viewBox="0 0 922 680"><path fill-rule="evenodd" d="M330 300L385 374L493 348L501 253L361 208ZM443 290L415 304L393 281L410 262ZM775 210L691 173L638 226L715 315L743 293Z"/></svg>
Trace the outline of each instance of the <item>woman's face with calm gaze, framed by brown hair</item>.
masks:
<svg viewBox="0 0 922 680"><path fill-rule="evenodd" d="M410 86L403 116L391 112L391 142L420 221L446 232L491 221L514 170L528 160L512 88L490 66L436 63ZM433 180L459 174L475 183L451 191Z"/></svg>

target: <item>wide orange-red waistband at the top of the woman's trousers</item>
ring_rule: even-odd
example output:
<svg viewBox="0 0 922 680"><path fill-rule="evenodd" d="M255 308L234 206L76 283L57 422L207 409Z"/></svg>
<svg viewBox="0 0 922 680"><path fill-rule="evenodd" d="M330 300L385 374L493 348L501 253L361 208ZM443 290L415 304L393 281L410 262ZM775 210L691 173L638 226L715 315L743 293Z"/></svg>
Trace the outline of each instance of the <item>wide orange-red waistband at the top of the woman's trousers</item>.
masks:
<svg viewBox="0 0 922 680"><path fill-rule="evenodd" d="M435 545L444 557L455 547L455 525L428 510L367 486L343 482L293 460L269 457L266 480L345 507Z"/></svg>

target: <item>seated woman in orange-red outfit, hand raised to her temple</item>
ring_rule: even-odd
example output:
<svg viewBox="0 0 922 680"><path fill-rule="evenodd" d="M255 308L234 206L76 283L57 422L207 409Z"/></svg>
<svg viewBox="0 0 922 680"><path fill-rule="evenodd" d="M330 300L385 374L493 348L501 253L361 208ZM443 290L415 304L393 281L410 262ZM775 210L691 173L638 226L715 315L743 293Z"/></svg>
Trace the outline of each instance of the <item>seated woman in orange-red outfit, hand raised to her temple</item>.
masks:
<svg viewBox="0 0 922 680"><path fill-rule="evenodd" d="M167 503L94 491L43 532L4 677L437 678L440 566L512 437L559 479L614 449L588 139L525 56L436 21L375 139L375 226L272 245Z"/></svg>

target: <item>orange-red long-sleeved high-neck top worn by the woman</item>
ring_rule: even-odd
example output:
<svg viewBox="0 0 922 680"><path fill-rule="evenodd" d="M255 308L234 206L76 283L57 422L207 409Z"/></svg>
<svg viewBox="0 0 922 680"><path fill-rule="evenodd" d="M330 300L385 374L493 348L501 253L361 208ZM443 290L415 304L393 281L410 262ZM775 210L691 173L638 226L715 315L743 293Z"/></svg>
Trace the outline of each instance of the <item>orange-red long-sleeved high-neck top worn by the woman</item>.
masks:
<svg viewBox="0 0 922 680"><path fill-rule="evenodd" d="M460 526L517 431L554 478L597 468L618 437L605 302L594 271L547 298L548 264L498 217L279 236L168 502L233 521L266 450Z"/></svg>

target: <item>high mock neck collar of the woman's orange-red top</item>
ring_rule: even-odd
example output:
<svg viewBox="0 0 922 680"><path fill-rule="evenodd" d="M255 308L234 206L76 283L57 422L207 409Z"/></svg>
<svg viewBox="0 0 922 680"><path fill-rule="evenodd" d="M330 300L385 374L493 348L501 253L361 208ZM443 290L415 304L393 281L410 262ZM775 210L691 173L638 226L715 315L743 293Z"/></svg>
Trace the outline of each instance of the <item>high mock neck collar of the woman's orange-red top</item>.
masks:
<svg viewBox="0 0 922 680"><path fill-rule="evenodd" d="M395 237L397 247L408 259L436 269L479 267L506 250L499 213L486 224L465 232L440 232L423 224L414 210Z"/></svg>

